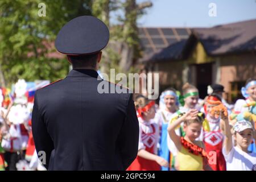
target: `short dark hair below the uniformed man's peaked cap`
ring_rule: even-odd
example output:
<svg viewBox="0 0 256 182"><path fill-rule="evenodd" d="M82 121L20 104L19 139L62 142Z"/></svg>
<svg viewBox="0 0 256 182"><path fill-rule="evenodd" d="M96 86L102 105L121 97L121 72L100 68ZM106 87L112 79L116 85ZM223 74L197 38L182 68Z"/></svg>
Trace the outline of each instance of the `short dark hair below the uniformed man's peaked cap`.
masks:
<svg viewBox="0 0 256 182"><path fill-rule="evenodd" d="M96 67L98 53L92 55L67 55L69 61L75 68L80 67Z"/></svg>

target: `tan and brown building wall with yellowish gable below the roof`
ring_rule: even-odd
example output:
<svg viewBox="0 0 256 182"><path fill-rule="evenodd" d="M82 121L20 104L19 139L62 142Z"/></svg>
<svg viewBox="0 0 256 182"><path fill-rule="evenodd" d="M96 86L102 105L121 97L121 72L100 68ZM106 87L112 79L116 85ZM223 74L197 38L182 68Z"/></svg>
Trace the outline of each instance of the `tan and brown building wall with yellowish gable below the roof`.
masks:
<svg viewBox="0 0 256 182"><path fill-rule="evenodd" d="M231 82L246 81L256 76L256 54L236 53L233 55L208 56L203 45L197 42L188 59L189 68L192 72L191 83L196 85L195 70L192 68L198 64L213 63L212 83L224 85L226 94L224 97L231 101Z"/></svg>

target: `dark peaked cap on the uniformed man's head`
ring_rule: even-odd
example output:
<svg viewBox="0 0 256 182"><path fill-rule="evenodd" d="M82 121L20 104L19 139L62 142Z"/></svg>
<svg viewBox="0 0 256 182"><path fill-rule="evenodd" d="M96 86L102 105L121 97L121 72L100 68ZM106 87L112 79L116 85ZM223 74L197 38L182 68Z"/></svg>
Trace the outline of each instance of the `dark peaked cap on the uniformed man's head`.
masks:
<svg viewBox="0 0 256 182"><path fill-rule="evenodd" d="M86 55L101 51L109 42L109 29L94 16L79 16L66 23L55 40L57 51Z"/></svg>

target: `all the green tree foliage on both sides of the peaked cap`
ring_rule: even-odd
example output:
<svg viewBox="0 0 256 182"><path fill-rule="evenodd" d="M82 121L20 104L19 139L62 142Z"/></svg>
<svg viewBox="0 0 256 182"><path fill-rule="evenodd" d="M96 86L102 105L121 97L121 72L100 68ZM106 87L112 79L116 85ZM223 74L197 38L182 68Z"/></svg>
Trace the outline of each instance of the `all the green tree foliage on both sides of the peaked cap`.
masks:
<svg viewBox="0 0 256 182"><path fill-rule="evenodd" d="M110 27L110 42L125 43L133 59L139 55L137 18L141 14L135 0L1 0L0 1L0 86L10 86L18 78L27 81L55 81L67 75L65 56L57 58L54 40L69 20L94 15ZM46 5L46 16L39 16L39 3ZM110 24L110 12L121 11L118 23ZM104 50L105 67L119 69L122 53L112 47ZM132 68L133 69L133 68ZM133 69L134 70L134 69ZM104 71L102 71L104 72Z"/></svg>

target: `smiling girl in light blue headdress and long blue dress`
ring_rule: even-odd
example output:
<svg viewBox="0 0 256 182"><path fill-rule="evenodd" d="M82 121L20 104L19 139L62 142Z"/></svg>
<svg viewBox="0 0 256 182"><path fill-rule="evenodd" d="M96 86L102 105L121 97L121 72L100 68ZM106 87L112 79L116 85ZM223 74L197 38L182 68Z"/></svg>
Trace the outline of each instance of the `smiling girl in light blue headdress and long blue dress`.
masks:
<svg viewBox="0 0 256 182"><path fill-rule="evenodd" d="M160 96L160 109L155 115L155 122L158 123L160 129L160 147L158 155L162 158L170 161L170 151L167 146L167 127L168 123L171 120L172 114L177 110L177 96L174 89L165 90ZM162 171L169 171L170 167L161 167Z"/></svg>

